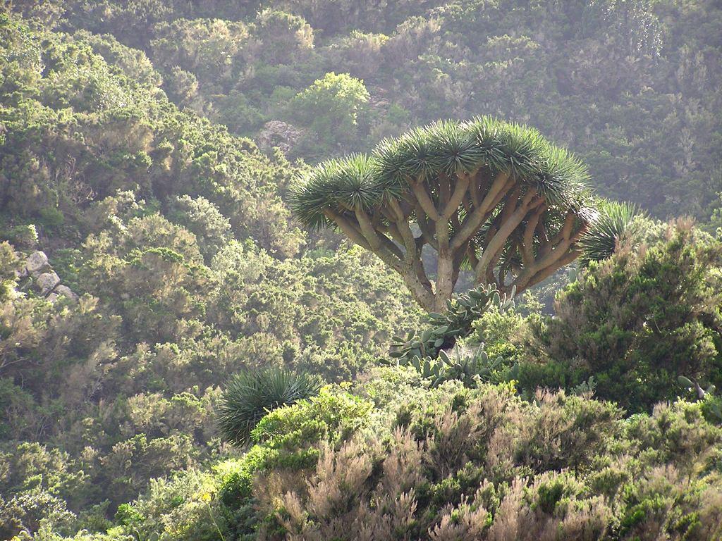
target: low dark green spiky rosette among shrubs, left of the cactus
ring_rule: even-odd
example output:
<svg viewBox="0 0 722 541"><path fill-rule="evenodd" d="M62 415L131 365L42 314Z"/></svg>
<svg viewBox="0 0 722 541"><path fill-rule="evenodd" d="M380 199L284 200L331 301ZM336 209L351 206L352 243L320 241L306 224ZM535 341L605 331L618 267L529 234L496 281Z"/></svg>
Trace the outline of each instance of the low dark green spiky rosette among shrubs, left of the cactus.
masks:
<svg viewBox="0 0 722 541"><path fill-rule="evenodd" d="M221 434L233 444L245 444L266 413L313 396L319 387L315 377L280 368L236 374L217 410Z"/></svg>

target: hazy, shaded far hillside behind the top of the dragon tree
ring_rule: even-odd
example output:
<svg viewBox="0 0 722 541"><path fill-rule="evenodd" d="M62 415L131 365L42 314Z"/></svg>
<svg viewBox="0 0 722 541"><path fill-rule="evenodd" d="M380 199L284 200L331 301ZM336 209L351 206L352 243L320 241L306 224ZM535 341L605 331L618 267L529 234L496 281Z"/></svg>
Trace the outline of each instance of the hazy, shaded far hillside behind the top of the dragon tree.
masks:
<svg viewBox="0 0 722 541"><path fill-rule="evenodd" d="M48 27L113 35L114 45L93 38L106 60L144 82L160 74L176 103L242 135L263 134L271 120L307 130L309 141L289 149L295 156L325 158L321 146L365 150L438 118L498 115L570 146L602 195L653 216L706 220L719 206L722 11L712 0L49 0L13 8ZM142 50L157 73L145 76L147 61L130 62L137 53L121 53L118 42ZM319 115L287 107L332 73L363 80L363 129L349 123L353 110L337 92L326 93ZM88 85L98 86L97 78Z"/></svg>

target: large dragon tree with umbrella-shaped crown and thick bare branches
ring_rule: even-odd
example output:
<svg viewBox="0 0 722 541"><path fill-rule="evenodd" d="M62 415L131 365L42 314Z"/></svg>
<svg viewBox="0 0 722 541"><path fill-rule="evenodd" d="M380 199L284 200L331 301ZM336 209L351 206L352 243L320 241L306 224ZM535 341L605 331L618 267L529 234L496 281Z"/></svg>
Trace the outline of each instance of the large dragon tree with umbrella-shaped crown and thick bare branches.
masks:
<svg viewBox="0 0 722 541"><path fill-rule="evenodd" d="M422 307L443 312L463 268L477 285L523 291L575 260L596 215L587 181L586 166L539 131L482 117L323 162L297 183L292 208L375 253Z"/></svg>

